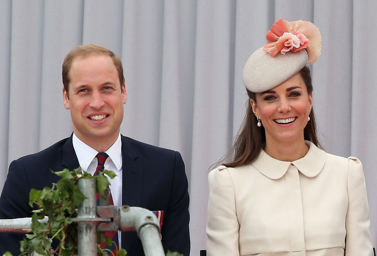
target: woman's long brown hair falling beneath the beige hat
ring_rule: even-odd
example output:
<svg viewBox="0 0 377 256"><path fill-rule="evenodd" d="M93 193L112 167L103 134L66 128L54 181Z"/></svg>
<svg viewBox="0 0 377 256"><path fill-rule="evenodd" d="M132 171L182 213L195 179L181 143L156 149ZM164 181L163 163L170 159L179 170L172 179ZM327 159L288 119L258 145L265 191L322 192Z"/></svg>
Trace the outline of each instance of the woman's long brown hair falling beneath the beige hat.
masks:
<svg viewBox="0 0 377 256"><path fill-rule="evenodd" d="M311 84L309 67L303 67L299 73L307 86L308 94L312 93L313 85ZM237 167L252 163L257 158L259 152L261 152L263 143L266 142L264 127L257 126L256 117L250 104L250 99L253 99L256 102L255 93L247 91L247 94L249 99L246 102L246 116L242 122L234 145L231 151L215 165L222 163L222 161L224 161L229 155L234 155L233 160L230 163L222 163L222 165L227 167ZM313 108L310 111L309 117L310 121L308 121L308 124L304 128L304 139L313 142L314 145L322 149L322 145L320 145L317 138L316 118Z"/></svg>

